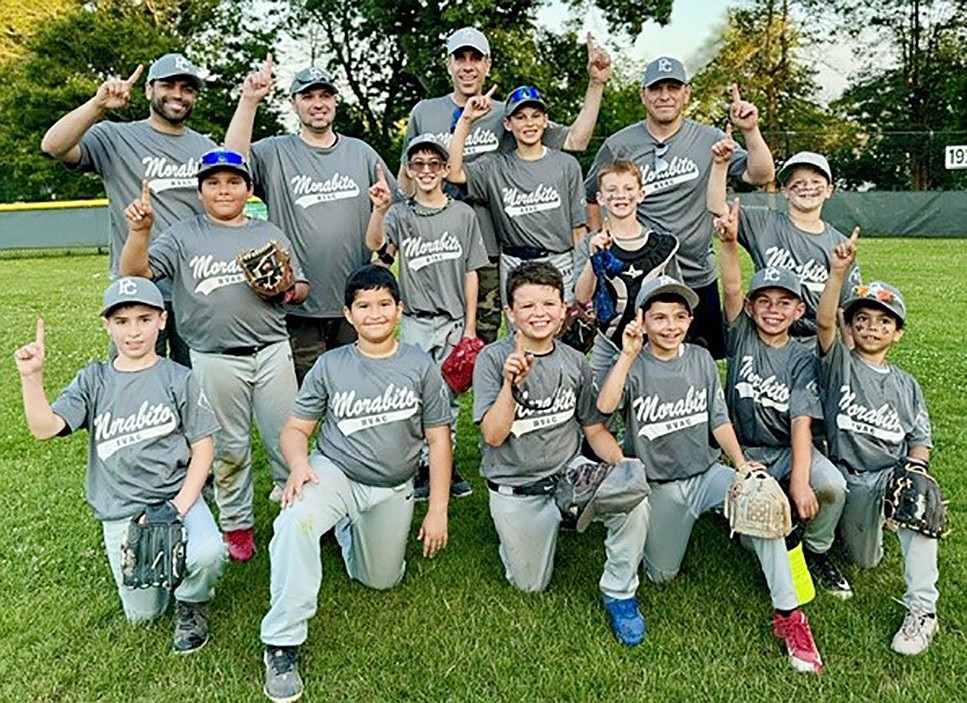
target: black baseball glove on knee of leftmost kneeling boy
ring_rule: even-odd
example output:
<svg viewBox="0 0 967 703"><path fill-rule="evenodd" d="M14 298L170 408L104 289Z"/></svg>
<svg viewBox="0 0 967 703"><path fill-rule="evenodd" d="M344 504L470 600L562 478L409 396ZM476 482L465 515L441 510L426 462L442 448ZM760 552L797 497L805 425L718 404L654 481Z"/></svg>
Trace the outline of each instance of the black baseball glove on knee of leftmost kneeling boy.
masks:
<svg viewBox="0 0 967 703"><path fill-rule="evenodd" d="M188 534L171 501L149 505L121 538L121 574L129 588L174 590L185 574Z"/></svg>

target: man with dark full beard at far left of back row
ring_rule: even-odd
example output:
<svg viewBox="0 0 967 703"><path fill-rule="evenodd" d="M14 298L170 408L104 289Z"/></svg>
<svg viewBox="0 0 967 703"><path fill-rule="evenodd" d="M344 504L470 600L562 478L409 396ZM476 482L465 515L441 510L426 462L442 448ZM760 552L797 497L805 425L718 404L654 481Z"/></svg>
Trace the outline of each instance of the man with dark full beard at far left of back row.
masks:
<svg viewBox="0 0 967 703"><path fill-rule="evenodd" d="M45 154L66 166L94 171L104 179L112 279L118 277L118 259L128 234L124 208L141 192L142 181L151 189L155 232L203 214L195 173L199 155L215 148L211 139L186 126L202 83L198 69L181 54L165 54L148 69L144 87L150 104L147 119L104 119L108 112L128 104L143 70L139 64L128 78L101 83L90 100L57 120L40 143ZM165 354L167 343L171 358L190 366L188 347L175 330L170 285L161 282L159 287L168 324L158 335L158 353Z"/></svg>

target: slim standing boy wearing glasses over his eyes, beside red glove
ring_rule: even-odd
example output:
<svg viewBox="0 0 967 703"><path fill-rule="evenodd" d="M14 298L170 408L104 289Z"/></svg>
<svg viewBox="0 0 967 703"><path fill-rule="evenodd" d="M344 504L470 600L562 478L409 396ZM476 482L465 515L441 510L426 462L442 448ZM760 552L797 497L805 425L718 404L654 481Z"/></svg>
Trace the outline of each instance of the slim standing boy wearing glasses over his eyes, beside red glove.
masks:
<svg viewBox="0 0 967 703"><path fill-rule="evenodd" d="M463 337L477 336L477 269L487 264L487 252L473 209L443 192L450 155L435 135L422 134L406 147L407 175L416 185L412 198L391 206L393 192L380 175L369 189L373 203L366 245L378 251L385 244L399 253L403 324L400 339L427 352L438 364ZM451 391L451 437L456 441L460 406ZM454 468L450 495L472 493L470 483ZM424 450L414 497L430 494L427 452Z"/></svg>

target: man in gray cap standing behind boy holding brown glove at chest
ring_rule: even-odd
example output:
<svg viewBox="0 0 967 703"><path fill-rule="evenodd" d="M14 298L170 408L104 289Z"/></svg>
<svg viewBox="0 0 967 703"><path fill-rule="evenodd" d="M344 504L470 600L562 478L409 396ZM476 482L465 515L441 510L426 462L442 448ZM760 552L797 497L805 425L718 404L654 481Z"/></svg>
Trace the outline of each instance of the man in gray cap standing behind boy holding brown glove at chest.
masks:
<svg viewBox="0 0 967 703"><path fill-rule="evenodd" d="M225 146L250 151L259 102L272 89L272 57L242 85ZM309 297L286 310L299 384L324 351L349 344L356 332L343 315L349 274L368 263L366 227L369 187L380 172L391 191L396 181L366 142L335 131L338 91L324 70L299 71L289 88L299 118L298 134L261 139L251 145L255 192L269 206L269 220L292 241L309 281Z"/></svg>

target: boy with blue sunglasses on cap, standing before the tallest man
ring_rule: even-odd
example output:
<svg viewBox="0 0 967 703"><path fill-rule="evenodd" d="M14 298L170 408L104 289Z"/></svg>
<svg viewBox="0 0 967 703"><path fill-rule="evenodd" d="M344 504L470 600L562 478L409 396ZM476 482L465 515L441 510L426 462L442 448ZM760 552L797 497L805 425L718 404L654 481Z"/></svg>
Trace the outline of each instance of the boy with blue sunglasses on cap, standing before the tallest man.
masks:
<svg viewBox="0 0 967 703"><path fill-rule="evenodd" d="M574 247L586 221L581 166L570 154L544 146L547 103L531 86L515 89L503 106L504 129L513 135L516 149L465 165L465 141L474 122L491 111L493 92L467 100L453 131L447 180L466 183L470 196L490 208L500 245L502 294L512 269L523 261L546 261L561 272L570 302ZM505 305L509 302L503 298Z"/></svg>

